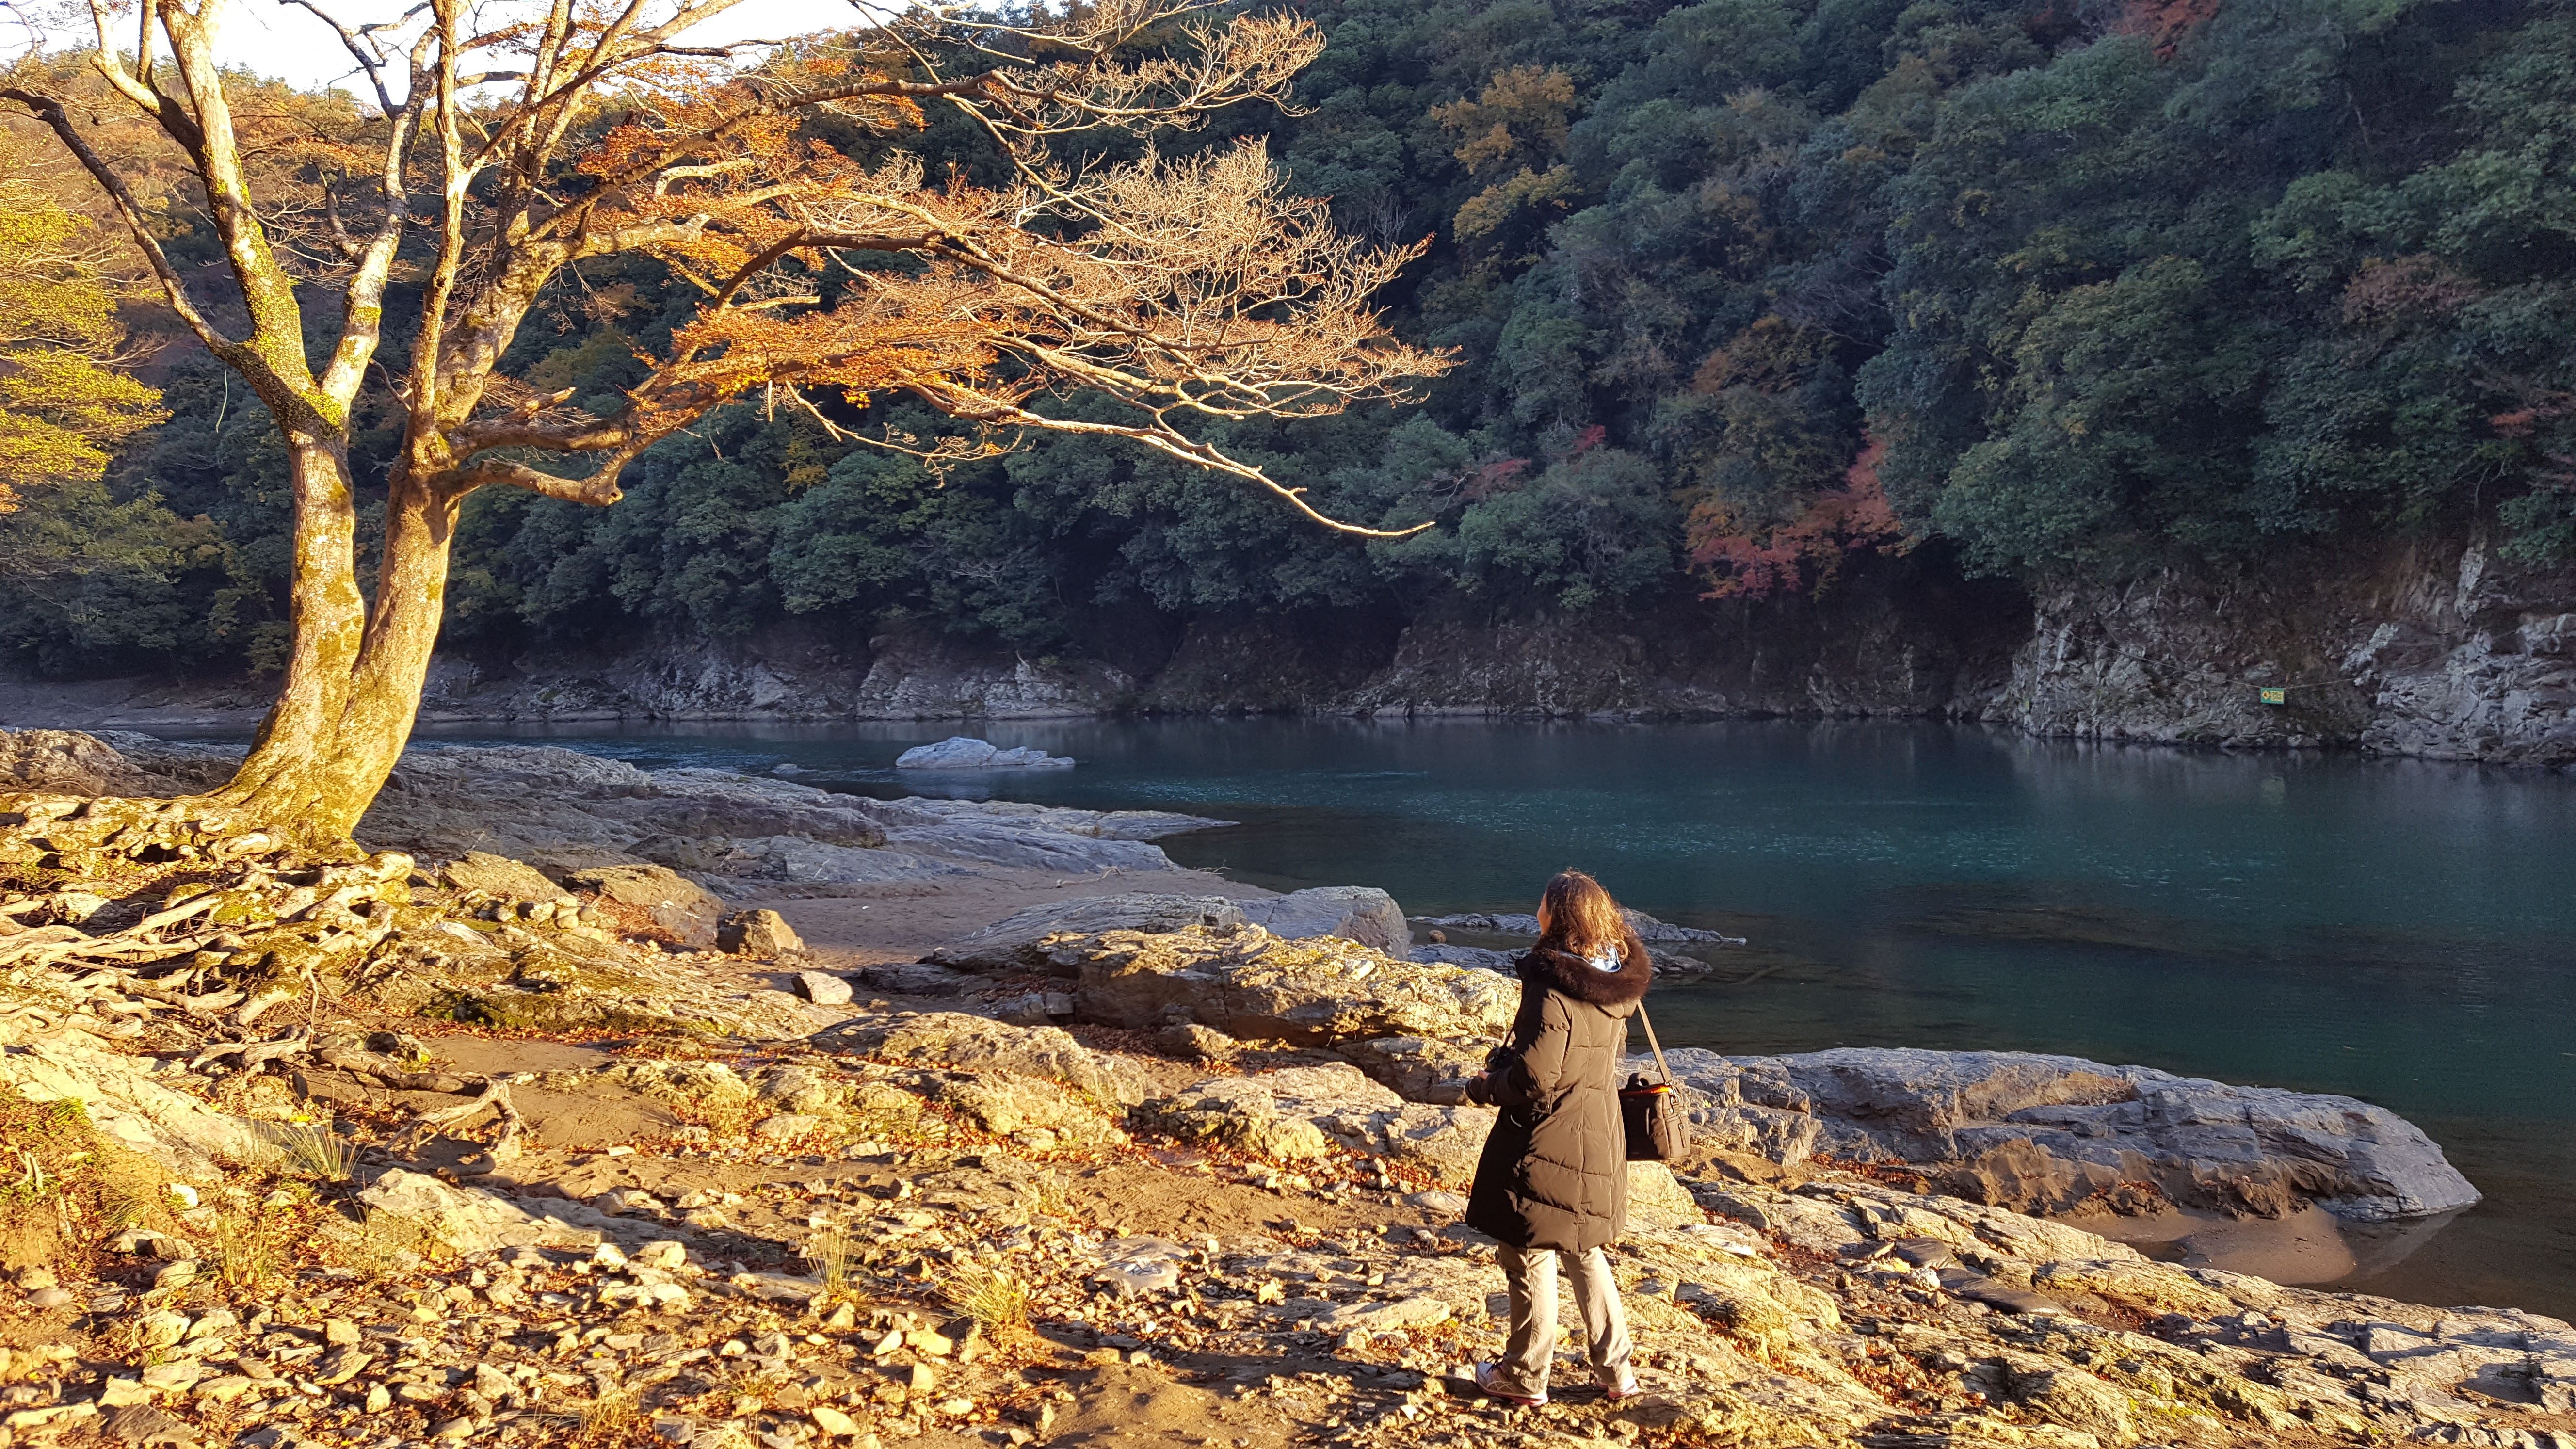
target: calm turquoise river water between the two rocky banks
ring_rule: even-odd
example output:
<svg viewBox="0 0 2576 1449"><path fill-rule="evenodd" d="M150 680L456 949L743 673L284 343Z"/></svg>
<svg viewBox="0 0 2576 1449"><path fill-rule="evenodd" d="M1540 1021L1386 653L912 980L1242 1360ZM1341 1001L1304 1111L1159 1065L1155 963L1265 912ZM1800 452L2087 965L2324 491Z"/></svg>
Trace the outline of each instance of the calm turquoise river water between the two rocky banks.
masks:
<svg viewBox="0 0 2576 1449"><path fill-rule="evenodd" d="M1584 866L1752 941L1723 957L1736 985L1659 998L1667 1044L2048 1049L2362 1096L2488 1196L2347 1287L2576 1312L2568 776L1937 724L1190 719L989 724L1082 766L943 781L886 768L938 724L726 730L549 737L1218 815L1239 825L1172 859L1378 884L1417 915L1528 910Z"/></svg>

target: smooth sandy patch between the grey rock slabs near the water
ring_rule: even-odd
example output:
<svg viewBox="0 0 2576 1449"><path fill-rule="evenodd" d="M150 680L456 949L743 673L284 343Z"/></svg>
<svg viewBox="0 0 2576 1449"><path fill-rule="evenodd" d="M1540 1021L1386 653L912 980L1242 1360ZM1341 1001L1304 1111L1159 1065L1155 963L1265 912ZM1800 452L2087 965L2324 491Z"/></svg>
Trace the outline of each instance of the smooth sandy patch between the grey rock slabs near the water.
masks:
<svg viewBox="0 0 2576 1449"><path fill-rule="evenodd" d="M778 895L734 900L737 908L770 908L786 915L824 967L878 967L917 962L933 946L981 931L1012 910L1048 900L1082 900L1123 892L1226 895L1260 900L1273 892L1208 871L1110 871L1100 877L1059 877L987 866L987 874L940 882L889 882L881 887L835 887L835 895Z"/></svg>

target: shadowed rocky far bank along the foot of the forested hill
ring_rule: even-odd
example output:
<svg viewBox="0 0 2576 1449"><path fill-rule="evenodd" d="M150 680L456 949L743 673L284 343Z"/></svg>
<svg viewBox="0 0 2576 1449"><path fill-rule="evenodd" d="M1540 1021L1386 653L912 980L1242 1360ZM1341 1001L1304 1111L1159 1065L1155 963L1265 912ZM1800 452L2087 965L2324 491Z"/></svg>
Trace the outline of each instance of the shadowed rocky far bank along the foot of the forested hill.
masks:
<svg viewBox="0 0 2576 1449"><path fill-rule="evenodd" d="M1064 657L922 632L654 637L605 655L440 657L422 719L1886 717L2566 766L2571 647L2576 572L2427 536L2027 593L1880 559L1826 598L1200 616ZM0 724L247 727L265 706L260 683L0 681Z"/></svg>

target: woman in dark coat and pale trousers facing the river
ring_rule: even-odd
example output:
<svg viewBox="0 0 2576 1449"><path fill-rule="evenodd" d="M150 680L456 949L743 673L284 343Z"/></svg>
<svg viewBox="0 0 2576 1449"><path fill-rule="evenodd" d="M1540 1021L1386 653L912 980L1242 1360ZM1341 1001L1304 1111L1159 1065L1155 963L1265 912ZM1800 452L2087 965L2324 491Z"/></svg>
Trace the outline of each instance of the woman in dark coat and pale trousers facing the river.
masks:
<svg viewBox="0 0 2576 1449"><path fill-rule="evenodd" d="M1502 1243L1512 1289L1510 1346L1502 1361L1476 1364L1476 1387L1492 1397L1548 1403L1558 1258L1574 1279L1595 1382L1613 1400L1636 1392L1628 1315L1602 1245L1628 1217L1618 1070L1649 980L1654 959L1610 892L1582 871L1551 879L1538 902L1538 946L1520 959L1512 1039L1468 1083L1468 1101L1502 1109L1466 1209L1471 1227Z"/></svg>

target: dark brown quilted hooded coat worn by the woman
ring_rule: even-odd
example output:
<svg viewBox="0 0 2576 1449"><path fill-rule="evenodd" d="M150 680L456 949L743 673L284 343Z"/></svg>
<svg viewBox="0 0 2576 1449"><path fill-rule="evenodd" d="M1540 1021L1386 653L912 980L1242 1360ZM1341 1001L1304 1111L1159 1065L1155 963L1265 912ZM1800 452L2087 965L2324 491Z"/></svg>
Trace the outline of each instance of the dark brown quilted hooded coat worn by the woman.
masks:
<svg viewBox="0 0 2576 1449"><path fill-rule="evenodd" d="M1605 972L1553 949L1520 959L1520 1016L1489 1070L1502 1116L1476 1160L1466 1220L1515 1248L1582 1253L1628 1220L1618 1070L1654 980L1643 946Z"/></svg>

